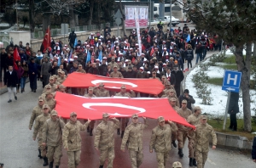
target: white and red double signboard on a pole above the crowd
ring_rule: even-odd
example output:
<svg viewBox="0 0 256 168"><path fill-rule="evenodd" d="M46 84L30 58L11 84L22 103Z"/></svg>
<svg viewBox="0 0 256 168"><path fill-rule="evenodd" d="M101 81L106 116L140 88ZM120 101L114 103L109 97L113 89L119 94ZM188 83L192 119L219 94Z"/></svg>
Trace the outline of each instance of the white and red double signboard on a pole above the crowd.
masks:
<svg viewBox="0 0 256 168"><path fill-rule="evenodd" d="M148 26L148 6L127 6L125 5L125 27L128 29L136 28L136 17L140 22L141 28Z"/></svg>

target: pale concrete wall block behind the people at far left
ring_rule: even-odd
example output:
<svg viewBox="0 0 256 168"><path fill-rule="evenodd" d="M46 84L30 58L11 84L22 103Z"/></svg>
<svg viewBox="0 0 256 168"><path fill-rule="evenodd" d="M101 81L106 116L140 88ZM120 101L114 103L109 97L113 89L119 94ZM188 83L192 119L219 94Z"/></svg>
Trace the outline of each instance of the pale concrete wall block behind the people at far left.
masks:
<svg viewBox="0 0 256 168"><path fill-rule="evenodd" d="M31 42L30 31L10 31L9 42L11 42L11 40L17 45L19 45L19 42L21 41L23 46L26 46L26 42Z"/></svg>

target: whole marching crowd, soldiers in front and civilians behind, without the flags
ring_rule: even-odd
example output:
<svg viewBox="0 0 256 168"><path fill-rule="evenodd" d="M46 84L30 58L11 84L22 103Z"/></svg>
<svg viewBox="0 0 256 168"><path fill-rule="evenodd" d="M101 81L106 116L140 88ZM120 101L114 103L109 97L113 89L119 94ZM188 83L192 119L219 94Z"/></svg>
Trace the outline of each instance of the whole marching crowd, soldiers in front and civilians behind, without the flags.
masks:
<svg viewBox="0 0 256 168"><path fill-rule="evenodd" d="M185 89L181 93L183 72L192 68L191 60L196 53L196 63L205 58L210 41L205 32L190 31L185 25L181 30L167 30L149 28L141 31L142 53L139 53L139 45L136 30L132 30L129 36L111 36L111 29L104 29L100 33L91 33L84 42L76 42L76 34L70 33L69 46L60 40L52 40L49 48L42 48L37 53L32 52L29 43L23 47L10 44L1 50L1 70L4 70L4 83L9 88L9 103L12 102L11 94L25 92L26 78L29 77L32 92L36 92L38 81L42 81L44 91L38 98L38 105L32 110L29 129L33 127L33 140L38 137L38 157L44 159L44 166L59 167L61 164L61 148L67 150L68 167L79 165L81 154L80 131L87 130L93 136L95 120L84 120L81 124L77 120L76 112L70 114L70 118L61 119L55 110L55 92L66 92L87 98L96 97L137 97L137 92L126 91L126 87L120 87L120 92L109 92L104 88L104 83L97 87L67 88L62 83L71 73L90 73L98 76L113 78L152 78L159 80L165 86L163 92L150 95L140 92L140 97L168 98L170 105L188 120L189 124L196 127L191 129L179 125L171 120L165 120L160 116L158 125L152 131L149 152L153 149L156 153L158 167L165 167L169 158L171 145L178 148L178 155L183 157L183 146L189 139L189 165L204 167L207 160L209 138L212 137L212 148L216 148L216 135L212 126L207 125L207 116L201 115L201 108L196 106L195 99ZM211 36L218 39L218 36ZM216 43L216 46L217 43ZM20 53L20 60L14 59L14 50ZM218 47L217 47L218 48ZM187 62L187 69L184 64ZM15 64L17 65L14 70ZM9 71L6 71L6 69ZM2 73L1 73L2 74ZM2 78L1 78L2 79ZM84 79L86 80L86 79ZM121 150L125 152L128 143L128 151L131 157L131 167L139 167L143 163L143 129L148 126L148 119L144 123L138 123L137 114L131 116L131 124L127 126L129 119L109 119L108 114L102 115L101 123L96 126L95 148L99 150L100 168L108 159L108 167L113 167L114 143L113 132L122 137ZM62 130L62 131L61 131ZM176 143L178 142L178 144ZM173 167L182 167L179 162L174 162Z"/></svg>

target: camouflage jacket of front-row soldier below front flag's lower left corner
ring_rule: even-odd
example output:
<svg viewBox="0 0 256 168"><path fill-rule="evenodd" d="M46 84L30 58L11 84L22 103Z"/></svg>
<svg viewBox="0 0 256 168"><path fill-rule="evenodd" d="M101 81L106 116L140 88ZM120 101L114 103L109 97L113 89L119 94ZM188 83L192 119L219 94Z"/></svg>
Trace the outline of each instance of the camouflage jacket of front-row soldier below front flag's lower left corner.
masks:
<svg viewBox="0 0 256 168"><path fill-rule="evenodd" d="M47 143L48 146L58 146L62 144L62 128L65 123L63 120L52 120L51 118L44 122L43 129L43 143Z"/></svg>

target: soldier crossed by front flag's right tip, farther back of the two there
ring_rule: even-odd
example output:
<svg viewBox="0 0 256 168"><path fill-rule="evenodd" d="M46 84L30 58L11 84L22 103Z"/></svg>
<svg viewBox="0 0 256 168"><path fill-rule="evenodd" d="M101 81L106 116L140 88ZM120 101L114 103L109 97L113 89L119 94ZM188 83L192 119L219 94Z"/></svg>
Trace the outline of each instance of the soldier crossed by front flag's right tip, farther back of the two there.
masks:
<svg viewBox="0 0 256 168"><path fill-rule="evenodd" d="M178 115L182 116L185 120L188 119L189 115L192 115L190 109L187 108L187 100L182 101L182 107L177 110ZM188 136L189 127L178 124L177 131L177 146L178 146L178 155L179 157L183 157L183 147L186 142L186 138Z"/></svg>

